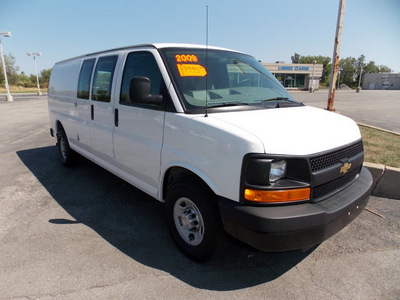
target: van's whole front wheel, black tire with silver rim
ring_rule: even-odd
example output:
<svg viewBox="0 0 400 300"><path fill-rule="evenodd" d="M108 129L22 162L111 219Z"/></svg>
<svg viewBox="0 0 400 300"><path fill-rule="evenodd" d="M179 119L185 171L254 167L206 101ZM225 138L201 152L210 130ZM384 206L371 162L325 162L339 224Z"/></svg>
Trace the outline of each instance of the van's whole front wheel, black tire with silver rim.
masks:
<svg viewBox="0 0 400 300"><path fill-rule="evenodd" d="M173 183L167 192L168 229L189 258L205 262L219 253L224 231L214 194L197 180Z"/></svg>

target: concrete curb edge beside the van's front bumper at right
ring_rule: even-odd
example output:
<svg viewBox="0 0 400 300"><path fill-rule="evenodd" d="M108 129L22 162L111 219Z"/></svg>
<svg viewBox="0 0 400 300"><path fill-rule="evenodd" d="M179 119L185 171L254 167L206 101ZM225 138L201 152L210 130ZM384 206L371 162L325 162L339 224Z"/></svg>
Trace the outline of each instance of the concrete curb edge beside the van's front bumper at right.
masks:
<svg viewBox="0 0 400 300"><path fill-rule="evenodd" d="M373 182L372 196L400 200L400 169L380 164L364 162L371 172Z"/></svg>

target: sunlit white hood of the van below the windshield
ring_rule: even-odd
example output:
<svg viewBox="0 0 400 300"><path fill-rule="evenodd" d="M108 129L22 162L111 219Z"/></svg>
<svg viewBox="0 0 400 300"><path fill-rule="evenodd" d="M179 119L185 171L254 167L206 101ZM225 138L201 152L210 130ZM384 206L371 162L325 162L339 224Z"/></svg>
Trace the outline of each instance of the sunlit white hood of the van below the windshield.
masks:
<svg viewBox="0 0 400 300"><path fill-rule="evenodd" d="M255 136L267 154L310 155L361 138L357 124L350 118L309 106L215 113L209 117Z"/></svg>

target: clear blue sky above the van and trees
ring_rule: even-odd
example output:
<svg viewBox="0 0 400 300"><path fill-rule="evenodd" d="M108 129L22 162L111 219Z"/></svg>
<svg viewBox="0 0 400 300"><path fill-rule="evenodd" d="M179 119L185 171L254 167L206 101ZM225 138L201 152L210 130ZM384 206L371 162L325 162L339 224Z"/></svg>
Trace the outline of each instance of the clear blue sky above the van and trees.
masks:
<svg viewBox="0 0 400 300"><path fill-rule="evenodd" d="M82 54L143 43L208 43L263 62L332 57L339 0L0 0L4 52L19 71L39 70ZM347 0L340 58L400 72L400 0Z"/></svg>

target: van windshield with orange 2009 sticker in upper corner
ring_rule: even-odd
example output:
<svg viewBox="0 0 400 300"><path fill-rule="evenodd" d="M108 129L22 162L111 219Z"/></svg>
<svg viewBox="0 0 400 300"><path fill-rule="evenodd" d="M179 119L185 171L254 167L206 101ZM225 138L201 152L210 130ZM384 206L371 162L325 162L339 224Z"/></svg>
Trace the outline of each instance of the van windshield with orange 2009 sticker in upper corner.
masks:
<svg viewBox="0 0 400 300"><path fill-rule="evenodd" d="M197 113L206 107L214 111L234 106L257 109L302 105L246 54L193 48L166 48L161 53L186 112Z"/></svg>

